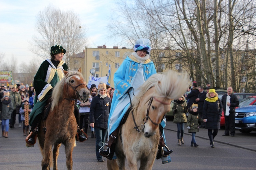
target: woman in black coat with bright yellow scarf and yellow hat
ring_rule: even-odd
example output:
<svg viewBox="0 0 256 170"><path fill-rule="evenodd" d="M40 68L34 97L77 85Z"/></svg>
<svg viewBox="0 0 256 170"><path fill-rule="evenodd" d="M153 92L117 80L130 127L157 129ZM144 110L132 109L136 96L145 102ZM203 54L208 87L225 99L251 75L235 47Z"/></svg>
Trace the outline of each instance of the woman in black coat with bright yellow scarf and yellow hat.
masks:
<svg viewBox="0 0 256 170"><path fill-rule="evenodd" d="M203 121L205 122L205 129L208 129L212 148L214 148L214 137L217 135L218 130L221 129L222 111L223 107L218 94L215 92L215 89L210 89L203 104Z"/></svg>

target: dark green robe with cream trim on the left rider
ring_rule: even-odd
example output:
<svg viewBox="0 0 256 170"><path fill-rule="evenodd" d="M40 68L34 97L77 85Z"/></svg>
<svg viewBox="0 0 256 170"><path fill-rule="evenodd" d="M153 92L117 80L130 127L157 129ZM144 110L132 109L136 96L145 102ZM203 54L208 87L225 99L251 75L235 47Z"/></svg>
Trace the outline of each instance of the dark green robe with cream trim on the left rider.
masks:
<svg viewBox="0 0 256 170"><path fill-rule="evenodd" d="M29 114L29 125L34 125L35 120L35 123L38 122L44 106L47 104L47 99L52 96L52 88L64 77L63 70L68 70L64 61L61 61L56 68L49 59L39 67L33 82L36 95L34 107Z"/></svg>

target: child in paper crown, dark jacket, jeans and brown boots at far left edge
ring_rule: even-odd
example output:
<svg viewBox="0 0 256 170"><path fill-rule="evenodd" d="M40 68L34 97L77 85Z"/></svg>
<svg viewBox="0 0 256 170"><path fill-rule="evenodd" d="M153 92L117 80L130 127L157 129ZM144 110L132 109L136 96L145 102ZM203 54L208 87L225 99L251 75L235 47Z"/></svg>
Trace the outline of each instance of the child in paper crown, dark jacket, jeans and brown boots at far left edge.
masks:
<svg viewBox="0 0 256 170"><path fill-rule="evenodd" d="M9 122L11 119L11 114L13 112L13 104L10 99L9 92L3 93L3 98L1 99L1 102L2 102L2 110L1 110L0 118L2 120L2 136L8 138Z"/></svg>

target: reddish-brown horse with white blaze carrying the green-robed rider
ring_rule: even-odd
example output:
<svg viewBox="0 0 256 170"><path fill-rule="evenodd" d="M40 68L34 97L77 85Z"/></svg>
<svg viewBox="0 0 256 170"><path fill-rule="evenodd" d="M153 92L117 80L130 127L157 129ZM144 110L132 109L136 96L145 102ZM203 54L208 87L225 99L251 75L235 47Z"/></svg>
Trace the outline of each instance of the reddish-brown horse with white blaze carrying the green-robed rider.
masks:
<svg viewBox="0 0 256 170"><path fill-rule="evenodd" d="M74 105L76 100L88 100L89 97L81 69L79 71L64 71L65 77L54 87L48 117L41 121L38 141L43 154L42 169L49 169L49 166L52 166L49 165L52 163L51 152L53 152L53 169L58 169L57 158L61 143L65 145L67 169L72 169L72 152L77 131ZM46 127L45 134L44 127Z"/></svg>

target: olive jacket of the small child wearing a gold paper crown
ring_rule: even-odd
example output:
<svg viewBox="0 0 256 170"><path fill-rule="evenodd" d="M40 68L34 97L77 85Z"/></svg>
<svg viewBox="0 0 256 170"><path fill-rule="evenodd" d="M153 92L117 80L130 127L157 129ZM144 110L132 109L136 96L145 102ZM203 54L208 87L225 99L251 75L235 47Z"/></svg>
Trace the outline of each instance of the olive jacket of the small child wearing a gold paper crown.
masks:
<svg viewBox="0 0 256 170"><path fill-rule="evenodd" d="M187 126L190 127L188 129L189 133L192 132L199 132L199 124L198 121L203 122L203 119L199 117L198 112L189 112L188 118L187 118Z"/></svg>

